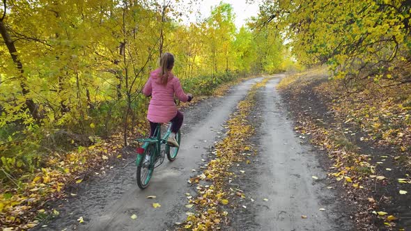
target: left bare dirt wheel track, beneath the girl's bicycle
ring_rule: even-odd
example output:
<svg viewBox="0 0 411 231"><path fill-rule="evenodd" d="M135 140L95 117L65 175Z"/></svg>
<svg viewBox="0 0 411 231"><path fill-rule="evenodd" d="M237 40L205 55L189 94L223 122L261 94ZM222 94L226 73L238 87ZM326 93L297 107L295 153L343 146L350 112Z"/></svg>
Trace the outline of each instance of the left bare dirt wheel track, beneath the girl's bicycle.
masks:
<svg viewBox="0 0 411 231"><path fill-rule="evenodd" d="M58 208L59 218L40 230L166 230L175 222L184 221L185 212L189 211L185 208L187 180L195 174L192 170L199 170L207 149L221 136L221 125L249 88L261 79L240 83L225 97L211 98L186 110L178 158L156 168L147 189L141 191L135 184L134 164L106 170L105 175L85 182L75 191L77 195ZM146 198L151 195L157 198ZM161 207L153 208L153 202ZM132 214L137 214L137 219L132 220ZM84 223L77 221L80 216Z"/></svg>

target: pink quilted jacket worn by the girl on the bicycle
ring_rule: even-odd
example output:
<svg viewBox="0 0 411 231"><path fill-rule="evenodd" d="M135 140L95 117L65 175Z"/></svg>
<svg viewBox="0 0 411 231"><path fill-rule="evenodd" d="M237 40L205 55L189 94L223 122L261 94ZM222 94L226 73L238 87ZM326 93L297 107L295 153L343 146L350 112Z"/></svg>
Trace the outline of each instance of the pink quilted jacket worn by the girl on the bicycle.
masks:
<svg viewBox="0 0 411 231"><path fill-rule="evenodd" d="M169 72L167 85L160 83L159 74L160 68L150 72L150 78L143 89L144 95L151 95L147 119L151 122L169 122L177 115L173 96L176 95L182 102L187 102L188 96L181 88L180 80L173 73Z"/></svg>

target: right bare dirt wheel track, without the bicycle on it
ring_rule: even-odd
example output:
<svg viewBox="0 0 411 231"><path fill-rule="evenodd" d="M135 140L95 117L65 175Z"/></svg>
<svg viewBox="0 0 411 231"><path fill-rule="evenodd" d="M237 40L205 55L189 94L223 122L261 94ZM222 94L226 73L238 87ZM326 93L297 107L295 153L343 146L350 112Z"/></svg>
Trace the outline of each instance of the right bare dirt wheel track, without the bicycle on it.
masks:
<svg viewBox="0 0 411 231"><path fill-rule="evenodd" d="M239 212L233 230L355 230L325 180L327 167L320 160L327 156L293 132L276 89L281 77L276 75L258 92L254 116L261 116L255 135L259 151L249 167L252 173L240 179L245 194L255 201L243 203L251 212ZM246 227L240 225L251 218Z"/></svg>

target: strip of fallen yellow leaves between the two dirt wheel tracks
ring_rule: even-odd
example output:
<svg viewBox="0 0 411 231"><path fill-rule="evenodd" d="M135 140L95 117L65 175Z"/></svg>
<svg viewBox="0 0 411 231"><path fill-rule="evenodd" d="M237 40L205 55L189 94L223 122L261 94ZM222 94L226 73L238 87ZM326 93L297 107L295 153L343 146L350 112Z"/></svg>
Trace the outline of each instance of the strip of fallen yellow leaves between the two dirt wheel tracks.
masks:
<svg viewBox="0 0 411 231"><path fill-rule="evenodd" d="M266 78L265 81L268 79ZM202 174L189 180L190 184L196 184L194 186L197 190L196 196L190 200L196 205L196 212L187 213L187 219L182 224L184 228L189 230L218 230L222 221L226 219L223 216L228 214L228 212L222 211L222 205L228 205L228 198L234 196L234 200L240 200L240 202L246 198L240 189L231 189L231 191L226 189L225 184L231 182L231 179L228 177L227 180L225 176L245 176L245 170L238 170L242 174L236 174L230 172L229 168L237 165L239 167L240 164L238 163L240 161L246 161L247 158L251 157L251 153L242 153L254 151L252 146L247 143L247 139L254 133L254 128L249 124L247 116L249 116L254 106L256 89L259 87L254 85L251 88L247 97L238 103L237 111L233 112L226 122L224 127L228 130L226 132L227 136L215 144L215 151L212 152L217 157L208 162L207 168L201 170L203 171ZM238 142L238 140L242 142ZM205 177L202 177L203 175ZM202 180L210 182L210 184L201 186L199 182ZM250 200L251 202L254 201L252 198ZM247 209L246 205L231 204L233 204L231 205L233 207L240 206Z"/></svg>

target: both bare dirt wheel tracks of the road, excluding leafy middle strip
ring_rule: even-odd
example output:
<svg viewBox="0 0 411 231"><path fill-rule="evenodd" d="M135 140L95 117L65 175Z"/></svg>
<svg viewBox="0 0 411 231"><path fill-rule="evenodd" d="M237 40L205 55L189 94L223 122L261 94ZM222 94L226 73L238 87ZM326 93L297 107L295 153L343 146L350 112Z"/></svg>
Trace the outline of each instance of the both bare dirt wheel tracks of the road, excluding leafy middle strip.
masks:
<svg viewBox="0 0 411 231"><path fill-rule="evenodd" d="M335 202L337 194L325 185L326 173L318 164L317 154L300 143L293 132L274 88L278 77L258 91L253 113L262 118L255 137L260 153L251 164L254 170L240 185L247 195L268 200L245 202L247 212L233 212L233 222L226 229L353 230L341 205ZM76 196L61 203L59 218L37 229L171 230L174 223L185 221L185 213L191 210L185 207L185 193L194 193L187 180L198 174L199 166L204 164L201 159L207 159L208 148L219 140L224 121L261 79L240 83L225 97L211 98L187 109L178 158L155 169L148 189L141 191L135 184L133 164L107 168L105 174L82 184L73 191ZM156 198L146 198L151 195ZM153 202L161 207L153 208ZM323 208L325 211L320 211ZM130 218L132 214L137 214L137 219ZM77 221L80 216L84 223Z"/></svg>

